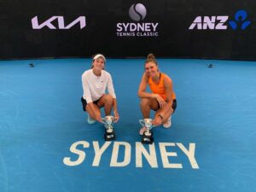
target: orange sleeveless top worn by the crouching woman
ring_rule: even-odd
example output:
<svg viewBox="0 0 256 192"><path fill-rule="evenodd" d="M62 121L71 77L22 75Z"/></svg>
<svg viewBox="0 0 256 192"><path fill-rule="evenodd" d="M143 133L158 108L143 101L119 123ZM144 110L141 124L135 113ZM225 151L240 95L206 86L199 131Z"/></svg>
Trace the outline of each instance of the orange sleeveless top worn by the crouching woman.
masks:
<svg viewBox="0 0 256 192"><path fill-rule="evenodd" d="M164 86L165 75L166 74L164 74L164 73L160 73L160 81L158 84L155 84L151 78L148 79L148 85L149 85L150 90L154 94L160 95L164 100L166 100L166 90L165 90L165 86ZM174 92L172 94L172 99L176 99Z"/></svg>

